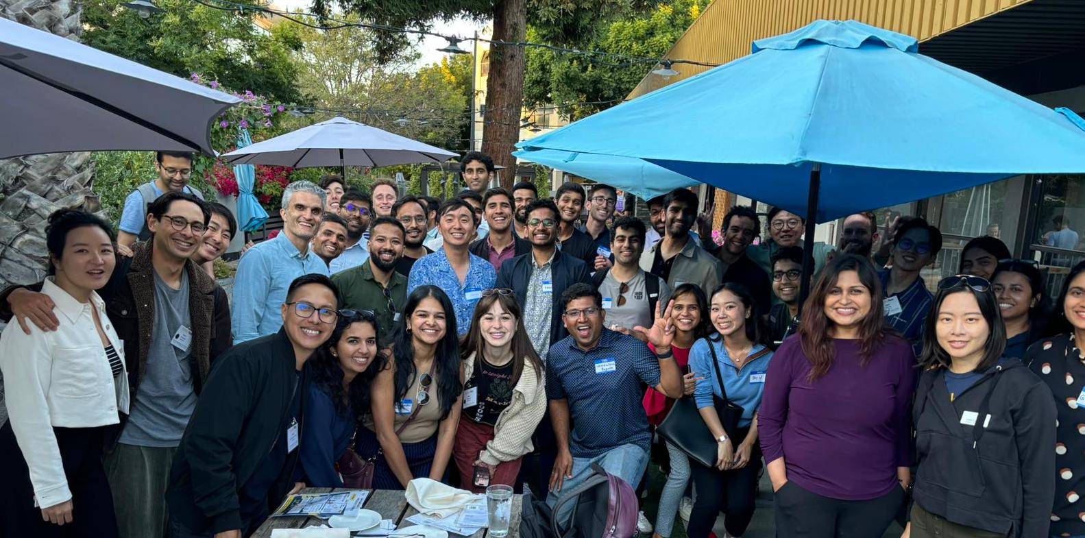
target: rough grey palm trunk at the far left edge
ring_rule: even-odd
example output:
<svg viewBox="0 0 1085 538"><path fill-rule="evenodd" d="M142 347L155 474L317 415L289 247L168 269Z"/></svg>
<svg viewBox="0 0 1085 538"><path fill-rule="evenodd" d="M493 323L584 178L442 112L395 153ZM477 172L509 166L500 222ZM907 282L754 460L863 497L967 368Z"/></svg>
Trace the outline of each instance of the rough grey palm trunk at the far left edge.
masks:
<svg viewBox="0 0 1085 538"><path fill-rule="evenodd" d="M73 0L0 1L0 16L75 41L82 30L81 13ZM44 278L49 261L44 221L62 207L82 207L93 174L89 152L0 159L0 287ZM0 406L0 424L7 421L8 410Z"/></svg>

